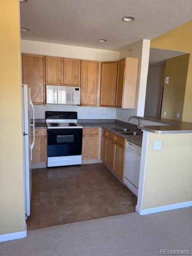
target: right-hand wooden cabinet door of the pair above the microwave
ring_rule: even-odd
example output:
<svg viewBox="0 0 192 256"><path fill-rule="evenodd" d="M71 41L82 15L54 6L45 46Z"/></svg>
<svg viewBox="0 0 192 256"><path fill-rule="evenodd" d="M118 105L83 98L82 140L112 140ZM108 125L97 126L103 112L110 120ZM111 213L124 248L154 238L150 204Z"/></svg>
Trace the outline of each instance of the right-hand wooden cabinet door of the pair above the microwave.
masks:
<svg viewBox="0 0 192 256"><path fill-rule="evenodd" d="M81 61L64 58L64 85L80 86Z"/></svg>

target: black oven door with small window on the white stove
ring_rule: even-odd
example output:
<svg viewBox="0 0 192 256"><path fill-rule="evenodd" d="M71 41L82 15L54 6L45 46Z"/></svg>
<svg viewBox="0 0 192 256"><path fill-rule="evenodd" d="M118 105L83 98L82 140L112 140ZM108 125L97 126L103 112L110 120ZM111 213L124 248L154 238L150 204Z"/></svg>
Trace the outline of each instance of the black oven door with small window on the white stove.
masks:
<svg viewBox="0 0 192 256"><path fill-rule="evenodd" d="M47 156L82 154L82 129L48 129Z"/></svg>

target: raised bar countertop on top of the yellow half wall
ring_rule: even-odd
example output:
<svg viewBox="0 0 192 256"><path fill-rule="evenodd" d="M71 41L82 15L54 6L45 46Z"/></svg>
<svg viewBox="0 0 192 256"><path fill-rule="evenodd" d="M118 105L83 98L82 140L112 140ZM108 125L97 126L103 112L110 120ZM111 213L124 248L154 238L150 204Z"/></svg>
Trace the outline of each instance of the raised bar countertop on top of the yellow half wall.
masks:
<svg viewBox="0 0 192 256"><path fill-rule="evenodd" d="M192 133L192 123L183 122L178 120L171 120L166 118L157 118L153 116L138 116L141 120L147 120L152 122L159 122L167 124L165 126L139 126L138 128L153 133L165 134L165 133Z"/></svg>

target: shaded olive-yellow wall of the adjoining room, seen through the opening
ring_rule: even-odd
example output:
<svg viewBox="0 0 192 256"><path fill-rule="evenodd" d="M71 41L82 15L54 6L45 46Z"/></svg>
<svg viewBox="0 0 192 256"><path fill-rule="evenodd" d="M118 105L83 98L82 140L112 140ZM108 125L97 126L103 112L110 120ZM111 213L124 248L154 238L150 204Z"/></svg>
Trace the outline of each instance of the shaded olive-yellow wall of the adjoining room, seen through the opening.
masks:
<svg viewBox="0 0 192 256"><path fill-rule="evenodd" d="M189 54L166 61L165 77L169 77L169 83L164 85L161 112L163 118L182 120L188 62ZM179 118L176 117L177 113Z"/></svg>

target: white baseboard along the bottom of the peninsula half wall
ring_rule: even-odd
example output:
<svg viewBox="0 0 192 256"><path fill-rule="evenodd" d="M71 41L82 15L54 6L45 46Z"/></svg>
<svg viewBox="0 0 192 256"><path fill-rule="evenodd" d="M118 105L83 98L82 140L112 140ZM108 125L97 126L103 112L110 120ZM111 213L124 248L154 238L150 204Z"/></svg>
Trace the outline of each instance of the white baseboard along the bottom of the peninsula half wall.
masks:
<svg viewBox="0 0 192 256"><path fill-rule="evenodd" d="M182 202L182 203L177 203L177 204L169 204L169 205L164 205L164 206L159 206L159 207L154 207L154 208L149 208L149 209L144 209L144 210L139 209L138 206L136 205L135 210L140 215L146 215L146 214L151 214L151 213L156 213L156 212L164 212L164 211L169 211L169 210L185 208L185 207L189 207L189 206L192 206L192 201Z"/></svg>

